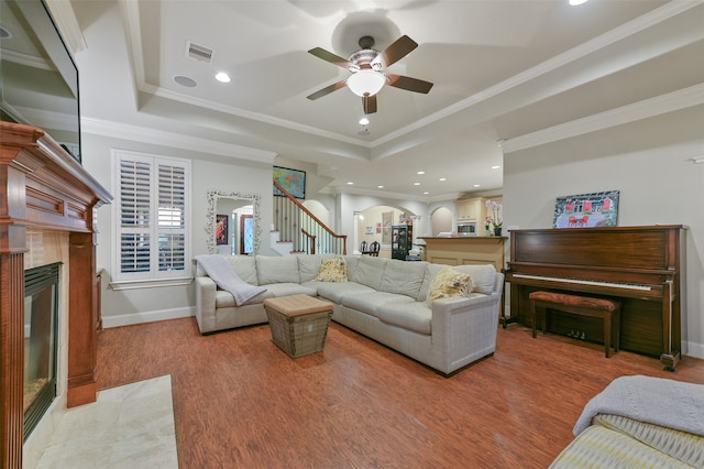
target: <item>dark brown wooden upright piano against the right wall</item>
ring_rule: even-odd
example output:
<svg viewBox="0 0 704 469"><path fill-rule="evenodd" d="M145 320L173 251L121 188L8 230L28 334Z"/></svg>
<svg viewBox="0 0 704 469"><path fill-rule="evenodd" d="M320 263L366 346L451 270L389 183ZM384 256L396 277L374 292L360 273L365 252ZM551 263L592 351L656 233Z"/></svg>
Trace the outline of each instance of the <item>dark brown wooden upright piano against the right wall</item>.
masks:
<svg viewBox="0 0 704 469"><path fill-rule="evenodd" d="M510 231L510 317L530 325L530 292L572 293L619 301L622 349L659 357L674 370L680 361L681 312L685 301L686 228L569 228ZM601 341L601 321L551 312L548 330L581 331Z"/></svg>

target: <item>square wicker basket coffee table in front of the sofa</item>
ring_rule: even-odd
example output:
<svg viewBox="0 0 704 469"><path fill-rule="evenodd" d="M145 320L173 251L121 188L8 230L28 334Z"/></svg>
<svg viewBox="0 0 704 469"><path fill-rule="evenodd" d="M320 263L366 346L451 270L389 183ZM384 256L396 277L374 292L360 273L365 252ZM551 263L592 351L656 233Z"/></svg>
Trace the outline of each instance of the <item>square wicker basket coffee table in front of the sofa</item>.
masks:
<svg viewBox="0 0 704 469"><path fill-rule="evenodd" d="M332 304L308 295L264 299L272 340L292 358L322 351Z"/></svg>

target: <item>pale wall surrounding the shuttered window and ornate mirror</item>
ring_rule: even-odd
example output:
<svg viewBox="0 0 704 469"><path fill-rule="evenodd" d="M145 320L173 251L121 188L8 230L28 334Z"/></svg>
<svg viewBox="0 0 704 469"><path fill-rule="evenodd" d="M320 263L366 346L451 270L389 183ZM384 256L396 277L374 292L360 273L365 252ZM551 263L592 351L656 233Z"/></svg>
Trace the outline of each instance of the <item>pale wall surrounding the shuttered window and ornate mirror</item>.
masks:
<svg viewBox="0 0 704 469"><path fill-rule="evenodd" d="M260 253L273 253L268 242L273 198L271 163L255 163L235 157L84 133L84 166L113 195L116 188L110 164L112 149L191 160L191 255L207 253L206 194L211 189L261 196ZM114 208L114 205L106 205L98 210L97 262L98 269L106 271L102 290L102 316L106 327L190 316L194 313L196 297L193 283L186 287L168 286L121 291L109 287L116 269L112 265L112 247L116 242L112 222L116 219Z"/></svg>

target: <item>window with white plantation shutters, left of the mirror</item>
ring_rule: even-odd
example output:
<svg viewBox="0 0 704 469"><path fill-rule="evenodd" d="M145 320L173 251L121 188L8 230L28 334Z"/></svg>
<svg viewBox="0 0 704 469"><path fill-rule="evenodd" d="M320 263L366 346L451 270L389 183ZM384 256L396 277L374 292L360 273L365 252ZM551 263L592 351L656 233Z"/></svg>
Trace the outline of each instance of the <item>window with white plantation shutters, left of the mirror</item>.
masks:
<svg viewBox="0 0 704 469"><path fill-rule="evenodd" d="M117 282L190 275L190 162L114 151Z"/></svg>

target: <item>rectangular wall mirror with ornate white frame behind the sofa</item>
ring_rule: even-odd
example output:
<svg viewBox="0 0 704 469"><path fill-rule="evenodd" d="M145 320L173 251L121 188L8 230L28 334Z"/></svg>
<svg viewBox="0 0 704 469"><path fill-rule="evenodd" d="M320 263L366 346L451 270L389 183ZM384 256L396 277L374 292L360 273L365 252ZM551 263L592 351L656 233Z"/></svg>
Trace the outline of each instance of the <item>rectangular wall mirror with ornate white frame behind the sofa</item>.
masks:
<svg viewBox="0 0 704 469"><path fill-rule="evenodd" d="M211 254L256 254L262 223L261 197L226 190L208 190L206 246Z"/></svg>

